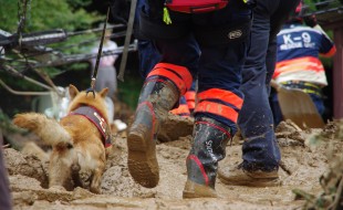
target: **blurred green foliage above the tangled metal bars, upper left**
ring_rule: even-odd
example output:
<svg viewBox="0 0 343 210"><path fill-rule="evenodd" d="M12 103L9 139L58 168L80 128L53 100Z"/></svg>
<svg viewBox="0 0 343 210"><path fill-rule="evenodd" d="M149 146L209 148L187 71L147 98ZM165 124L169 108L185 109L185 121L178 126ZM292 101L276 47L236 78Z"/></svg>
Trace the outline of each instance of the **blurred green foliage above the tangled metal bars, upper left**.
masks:
<svg viewBox="0 0 343 210"><path fill-rule="evenodd" d="M93 22L100 20L96 13L87 13L83 6L90 0L28 0L27 22L24 32L34 32L49 29L89 29ZM18 28L18 11L23 8L22 1L0 0L0 29L15 32Z"/></svg>

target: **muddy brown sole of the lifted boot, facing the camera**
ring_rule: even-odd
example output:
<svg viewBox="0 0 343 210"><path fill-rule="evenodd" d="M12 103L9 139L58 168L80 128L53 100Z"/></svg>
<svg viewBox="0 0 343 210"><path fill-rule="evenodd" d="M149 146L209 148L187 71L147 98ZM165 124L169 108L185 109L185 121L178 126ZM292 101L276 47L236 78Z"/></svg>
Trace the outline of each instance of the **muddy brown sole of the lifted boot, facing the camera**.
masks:
<svg viewBox="0 0 343 210"><path fill-rule="evenodd" d="M142 134L132 132L127 137L127 167L134 180L143 187L154 188L159 181L154 139L145 140Z"/></svg>

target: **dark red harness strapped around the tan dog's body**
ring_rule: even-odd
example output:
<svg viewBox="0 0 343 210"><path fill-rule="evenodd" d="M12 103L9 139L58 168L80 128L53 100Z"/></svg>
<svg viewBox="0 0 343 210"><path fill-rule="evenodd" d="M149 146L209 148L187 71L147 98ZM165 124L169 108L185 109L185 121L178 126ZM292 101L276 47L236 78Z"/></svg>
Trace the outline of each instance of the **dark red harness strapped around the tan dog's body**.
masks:
<svg viewBox="0 0 343 210"><path fill-rule="evenodd" d="M102 141L105 148L111 147L111 128L106 123L105 118L100 114L100 112L92 106L81 106L75 111L71 112L70 115L81 115L92 122L102 134Z"/></svg>

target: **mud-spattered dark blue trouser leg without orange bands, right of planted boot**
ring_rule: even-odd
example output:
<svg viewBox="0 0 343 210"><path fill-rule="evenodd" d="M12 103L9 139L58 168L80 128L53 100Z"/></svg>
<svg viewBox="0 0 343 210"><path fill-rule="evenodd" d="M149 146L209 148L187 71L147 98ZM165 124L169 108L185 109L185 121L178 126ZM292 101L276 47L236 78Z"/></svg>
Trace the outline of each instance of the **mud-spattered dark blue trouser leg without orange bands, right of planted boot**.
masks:
<svg viewBox="0 0 343 210"><path fill-rule="evenodd" d="M263 1L258 2L253 10L251 45L242 73L241 91L245 94L245 103L238 124L246 139L242 146L242 168L249 171L278 170L281 158L268 101L269 90L266 85L270 14L276 8Z"/></svg>

